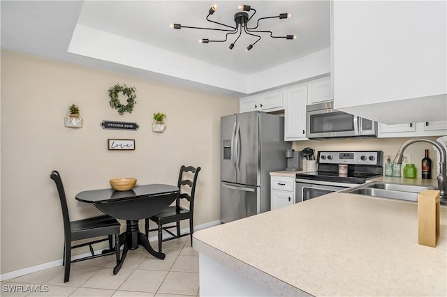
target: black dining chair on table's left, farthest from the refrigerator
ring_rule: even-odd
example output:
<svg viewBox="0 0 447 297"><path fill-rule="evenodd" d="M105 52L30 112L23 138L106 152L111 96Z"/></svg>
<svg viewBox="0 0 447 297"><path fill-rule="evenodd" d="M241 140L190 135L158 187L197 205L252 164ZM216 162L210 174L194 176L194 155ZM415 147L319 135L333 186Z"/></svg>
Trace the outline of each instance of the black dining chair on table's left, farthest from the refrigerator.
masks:
<svg viewBox="0 0 447 297"><path fill-rule="evenodd" d="M57 192L59 192L59 199L61 200L62 218L64 219L64 257L62 258L62 265L64 269L64 282L68 282L70 278L70 264L78 261L85 261L88 259L94 259L97 257L103 257L108 254L115 253L117 257L117 263L119 261L119 230L120 224L109 215L100 215L93 218L84 220L70 221L68 215L68 207L65 196L64 185L62 184L61 175L59 172L53 170L50 178L56 183ZM112 236L115 235L115 248L112 246ZM82 239L94 238L99 236L108 236L96 241L89 241L79 245L71 245L72 241L80 241ZM109 241L109 249L103 250L101 254L94 254L93 247L91 245L95 243L101 243L103 241ZM89 246L91 256L82 257L80 259L71 259L71 250L75 248L81 248Z"/></svg>

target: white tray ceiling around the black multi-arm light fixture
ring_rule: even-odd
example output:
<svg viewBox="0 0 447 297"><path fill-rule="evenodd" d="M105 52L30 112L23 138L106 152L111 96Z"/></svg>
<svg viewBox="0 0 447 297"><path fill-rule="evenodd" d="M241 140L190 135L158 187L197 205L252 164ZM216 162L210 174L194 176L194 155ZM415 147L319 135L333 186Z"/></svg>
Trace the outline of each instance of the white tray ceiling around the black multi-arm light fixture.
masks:
<svg viewBox="0 0 447 297"><path fill-rule="evenodd" d="M225 32L170 28L173 23L219 28L205 20L214 4L217 11L210 19L234 26L238 1L1 1L1 47L237 96L247 93L237 81L330 46L328 0L245 2L256 9L251 20L255 24L258 17L292 15L263 20L258 30L297 36L286 40L262 33L249 52L245 47L256 40L251 36L242 34L229 50L235 35L226 43L201 44L200 38L222 39ZM186 75L180 74L181 66ZM203 78L194 73L199 70ZM221 85L207 82L207 75L219 78L219 73L222 80L233 77L235 86L230 80Z"/></svg>

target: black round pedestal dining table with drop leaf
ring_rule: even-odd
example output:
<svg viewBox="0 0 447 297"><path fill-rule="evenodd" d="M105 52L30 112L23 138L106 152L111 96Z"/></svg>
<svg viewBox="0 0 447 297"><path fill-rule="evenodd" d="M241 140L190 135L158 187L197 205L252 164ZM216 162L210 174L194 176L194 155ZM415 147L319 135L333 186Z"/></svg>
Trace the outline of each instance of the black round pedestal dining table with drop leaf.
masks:
<svg viewBox="0 0 447 297"><path fill-rule="evenodd" d="M113 273L117 274L126 259L128 250L142 245L149 254L159 259L166 255L156 252L149 244L149 239L140 232L138 220L150 218L168 207L179 196L180 190L175 185L150 184L137 185L131 190L116 191L112 188L79 192L75 199L91 203L103 213L113 218L126 220L126 231L119 235L119 247L124 245L122 257Z"/></svg>

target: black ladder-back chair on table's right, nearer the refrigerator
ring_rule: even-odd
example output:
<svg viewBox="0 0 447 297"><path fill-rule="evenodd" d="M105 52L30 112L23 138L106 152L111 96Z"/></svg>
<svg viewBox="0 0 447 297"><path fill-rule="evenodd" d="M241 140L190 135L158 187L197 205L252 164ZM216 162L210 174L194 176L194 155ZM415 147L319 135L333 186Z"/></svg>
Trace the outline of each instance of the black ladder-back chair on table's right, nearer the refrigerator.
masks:
<svg viewBox="0 0 447 297"><path fill-rule="evenodd" d="M191 172L191 173L189 173ZM160 213L147 218L145 220L146 236L149 235L149 231L158 231L159 235L159 252L161 252L161 243L163 241L170 241L175 238L180 238L182 236L191 236L191 246L193 244L193 232L194 232L194 195L196 193L196 183L197 176L200 172L200 167L194 168L192 166L180 167L179 180L177 187L180 189L180 195L175 200L175 206L168 206ZM191 174L193 174L191 178ZM189 186L189 191L184 191L182 187ZM189 193L188 193L189 192ZM181 199L186 199L189 201L189 209L180 206ZM189 219L189 233L180 234L180 221ZM149 230L149 220L156 222L158 224L157 229ZM164 224L170 224L175 222L175 224L163 227ZM176 228L177 234L173 234L169 229ZM166 231L173 237L163 239L163 230Z"/></svg>

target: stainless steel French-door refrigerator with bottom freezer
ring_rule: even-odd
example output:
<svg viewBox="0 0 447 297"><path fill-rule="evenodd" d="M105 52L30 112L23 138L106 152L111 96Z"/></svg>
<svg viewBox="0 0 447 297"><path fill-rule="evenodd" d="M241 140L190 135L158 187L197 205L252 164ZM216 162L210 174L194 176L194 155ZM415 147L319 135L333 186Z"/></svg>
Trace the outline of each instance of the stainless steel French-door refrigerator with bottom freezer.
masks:
<svg viewBox="0 0 447 297"><path fill-rule="evenodd" d="M221 117L221 223L270 211L270 172L286 168L284 117Z"/></svg>

